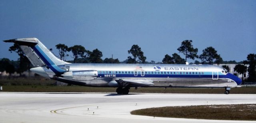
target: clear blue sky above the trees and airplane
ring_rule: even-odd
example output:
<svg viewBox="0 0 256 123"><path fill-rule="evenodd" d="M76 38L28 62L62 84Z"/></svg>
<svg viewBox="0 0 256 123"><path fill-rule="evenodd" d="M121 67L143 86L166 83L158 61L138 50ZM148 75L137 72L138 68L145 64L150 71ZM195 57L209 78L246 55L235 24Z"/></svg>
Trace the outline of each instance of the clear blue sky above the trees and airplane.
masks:
<svg viewBox="0 0 256 123"><path fill-rule="evenodd" d="M198 55L212 46L239 62L256 54L256 0L1 0L0 58L18 58L2 40L30 37L56 54L56 44L82 45L120 61L138 44L156 62L192 40Z"/></svg>

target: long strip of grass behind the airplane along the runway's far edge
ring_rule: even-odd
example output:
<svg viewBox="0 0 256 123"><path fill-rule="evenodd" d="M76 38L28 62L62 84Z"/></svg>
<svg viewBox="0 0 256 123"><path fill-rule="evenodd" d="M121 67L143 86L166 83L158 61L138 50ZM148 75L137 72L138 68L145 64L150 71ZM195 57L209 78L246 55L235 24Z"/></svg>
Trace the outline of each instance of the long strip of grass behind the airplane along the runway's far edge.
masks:
<svg viewBox="0 0 256 123"><path fill-rule="evenodd" d="M0 85L6 92L107 92L116 93L114 87L84 87L84 86L53 86L53 85ZM219 93L223 94L224 88L138 88L130 89L130 93ZM230 94L256 94L256 87L235 87Z"/></svg>

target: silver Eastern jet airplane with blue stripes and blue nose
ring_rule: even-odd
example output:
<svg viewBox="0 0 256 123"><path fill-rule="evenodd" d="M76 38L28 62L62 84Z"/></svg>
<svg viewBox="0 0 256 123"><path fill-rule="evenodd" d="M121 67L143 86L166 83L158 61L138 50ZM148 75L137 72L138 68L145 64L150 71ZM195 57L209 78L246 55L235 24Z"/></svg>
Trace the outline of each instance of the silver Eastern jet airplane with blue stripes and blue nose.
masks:
<svg viewBox="0 0 256 123"><path fill-rule="evenodd" d="M68 63L58 59L37 38L4 40L20 46L34 68L30 70L56 81L89 87L117 87L128 94L134 87L230 88L242 83L222 67L202 64Z"/></svg>

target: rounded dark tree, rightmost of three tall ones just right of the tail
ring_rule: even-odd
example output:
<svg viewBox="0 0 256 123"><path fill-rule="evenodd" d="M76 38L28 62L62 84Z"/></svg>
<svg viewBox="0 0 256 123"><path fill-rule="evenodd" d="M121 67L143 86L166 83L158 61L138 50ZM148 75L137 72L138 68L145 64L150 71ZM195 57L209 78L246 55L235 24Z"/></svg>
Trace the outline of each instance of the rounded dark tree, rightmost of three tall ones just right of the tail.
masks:
<svg viewBox="0 0 256 123"><path fill-rule="evenodd" d="M102 52L98 49L93 50L90 52L89 60L91 63L103 63L103 60L101 59Z"/></svg>

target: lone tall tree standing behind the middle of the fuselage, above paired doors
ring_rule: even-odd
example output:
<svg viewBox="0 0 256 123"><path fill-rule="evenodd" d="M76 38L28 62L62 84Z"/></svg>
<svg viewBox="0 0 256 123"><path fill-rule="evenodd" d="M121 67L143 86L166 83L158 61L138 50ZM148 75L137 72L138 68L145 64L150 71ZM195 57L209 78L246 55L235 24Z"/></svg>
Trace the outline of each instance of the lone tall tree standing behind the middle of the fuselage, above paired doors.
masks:
<svg viewBox="0 0 256 123"><path fill-rule="evenodd" d="M138 45L133 45L130 50L128 50L128 54L132 54L133 58L131 56L128 56L128 62L127 63L145 63L146 57L144 56L144 53L141 51L141 48Z"/></svg>

